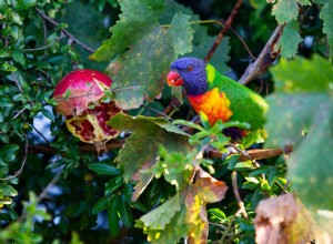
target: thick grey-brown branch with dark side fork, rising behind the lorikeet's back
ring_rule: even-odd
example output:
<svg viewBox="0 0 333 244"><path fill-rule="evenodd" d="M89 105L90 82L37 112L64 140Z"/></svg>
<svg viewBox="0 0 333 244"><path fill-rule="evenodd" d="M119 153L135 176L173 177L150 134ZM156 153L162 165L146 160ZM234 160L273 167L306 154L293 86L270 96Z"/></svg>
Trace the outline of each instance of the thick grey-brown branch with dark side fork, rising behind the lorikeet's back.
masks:
<svg viewBox="0 0 333 244"><path fill-rule="evenodd" d="M258 77L259 73L262 73L274 62L276 57L272 57L271 49L279 41L284 26L285 24L280 24L275 28L273 34L259 54L258 59L246 68L244 74L239 80L241 84L248 84L253 78Z"/></svg>

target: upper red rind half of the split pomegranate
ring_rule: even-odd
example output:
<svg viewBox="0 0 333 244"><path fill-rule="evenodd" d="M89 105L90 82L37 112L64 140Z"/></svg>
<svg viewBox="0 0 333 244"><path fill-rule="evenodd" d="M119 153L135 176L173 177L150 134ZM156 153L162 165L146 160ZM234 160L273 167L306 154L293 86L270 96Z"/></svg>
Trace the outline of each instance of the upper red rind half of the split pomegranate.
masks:
<svg viewBox="0 0 333 244"><path fill-rule="evenodd" d="M89 103L100 100L110 89L112 80L95 70L77 70L67 74L56 87L53 98L56 111L63 115L80 115ZM65 94L69 92L69 98Z"/></svg>

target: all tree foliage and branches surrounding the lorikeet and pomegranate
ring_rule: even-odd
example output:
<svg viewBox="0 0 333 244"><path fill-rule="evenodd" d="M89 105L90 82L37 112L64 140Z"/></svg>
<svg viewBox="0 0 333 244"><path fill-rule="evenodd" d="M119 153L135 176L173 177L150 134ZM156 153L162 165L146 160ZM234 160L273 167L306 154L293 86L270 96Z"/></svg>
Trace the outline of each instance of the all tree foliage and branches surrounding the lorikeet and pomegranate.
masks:
<svg viewBox="0 0 333 244"><path fill-rule="evenodd" d="M0 0L1 243L333 238L333 4L184 2ZM233 143L248 123L211 126L164 85L183 55L266 96L264 143ZM103 154L54 111L82 68L105 71L127 110Z"/></svg>

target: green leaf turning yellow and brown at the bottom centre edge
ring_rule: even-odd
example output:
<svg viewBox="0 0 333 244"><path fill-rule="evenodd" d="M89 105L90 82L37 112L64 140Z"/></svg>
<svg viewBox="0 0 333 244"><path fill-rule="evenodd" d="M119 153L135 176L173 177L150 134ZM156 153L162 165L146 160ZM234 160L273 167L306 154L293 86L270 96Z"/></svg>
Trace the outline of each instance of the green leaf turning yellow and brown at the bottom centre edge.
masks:
<svg viewBox="0 0 333 244"><path fill-rule="evenodd" d="M206 203L221 201L226 186L199 169L193 184L161 206L143 215L135 224L153 243L178 243L189 237L191 243L206 243L209 223Z"/></svg>

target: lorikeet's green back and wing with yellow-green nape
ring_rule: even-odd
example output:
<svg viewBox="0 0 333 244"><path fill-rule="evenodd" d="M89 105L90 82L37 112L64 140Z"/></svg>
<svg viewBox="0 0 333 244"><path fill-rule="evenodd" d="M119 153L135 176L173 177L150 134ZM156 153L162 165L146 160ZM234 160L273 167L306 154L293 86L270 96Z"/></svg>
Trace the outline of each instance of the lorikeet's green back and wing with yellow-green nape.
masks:
<svg viewBox="0 0 333 244"><path fill-rule="evenodd" d="M251 89L222 75L211 64L206 65L209 90L218 88L230 100L231 121L248 122L251 130L262 129L269 109L266 100Z"/></svg>

